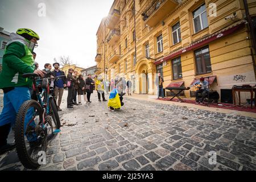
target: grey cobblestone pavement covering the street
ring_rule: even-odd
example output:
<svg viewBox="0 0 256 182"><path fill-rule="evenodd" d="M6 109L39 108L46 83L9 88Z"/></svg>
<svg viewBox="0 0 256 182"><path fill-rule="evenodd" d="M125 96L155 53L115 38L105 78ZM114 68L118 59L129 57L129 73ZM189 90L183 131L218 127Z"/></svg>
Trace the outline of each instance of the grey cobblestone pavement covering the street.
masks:
<svg viewBox="0 0 256 182"><path fill-rule="evenodd" d="M127 97L111 112L92 98L89 106L60 112L64 126L39 170L256 169L256 118ZM217 164L209 164L210 151ZM26 170L15 151L0 156L3 169Z"/></svg>

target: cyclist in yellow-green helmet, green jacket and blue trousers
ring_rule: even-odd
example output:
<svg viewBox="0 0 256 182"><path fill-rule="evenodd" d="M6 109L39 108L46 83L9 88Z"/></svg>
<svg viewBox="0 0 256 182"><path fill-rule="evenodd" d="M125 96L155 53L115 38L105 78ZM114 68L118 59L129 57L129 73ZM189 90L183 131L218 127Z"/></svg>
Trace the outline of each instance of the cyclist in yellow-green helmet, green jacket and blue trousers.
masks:
<svg viewBox="0 0 256 182"><path fill-rule="evenodd" d="M43 71L33 68L32 52L39 40L38 34L28 28L19 28L10 34L11 41L7 43L3 55L2 72L0 74L0 89L3 89L3 110L0 115L0 154L15 148L15 144L7 143L11 127L14 126L16 113L23 102L30 100L29 88L32 81L23 78L23 73L37 73L43 77ZM36 142L37 138L28 138Z"/></svg>

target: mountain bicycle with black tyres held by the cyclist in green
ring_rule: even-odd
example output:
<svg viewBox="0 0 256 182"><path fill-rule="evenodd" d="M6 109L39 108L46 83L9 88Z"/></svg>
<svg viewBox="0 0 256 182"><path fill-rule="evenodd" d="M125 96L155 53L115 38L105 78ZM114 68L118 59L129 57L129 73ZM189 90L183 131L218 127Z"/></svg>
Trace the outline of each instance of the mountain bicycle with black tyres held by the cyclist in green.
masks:
<svg viewBox="0 0 256 182"><path fill-rule="evenodd" d="M55 98L50 92L49 80L57 80L62 76L38 80L38 74L26 73L23 77L32 79L32 88L36 92L38 101L24 102L16 115L14 129L16 152L24 167L37 169L42 165L39 160L42 152L47 150L48 140L60 133L60 118ZM39 85L43 90L42 93L39 92ZM52 120L55 130L53 130Z"/></svg>

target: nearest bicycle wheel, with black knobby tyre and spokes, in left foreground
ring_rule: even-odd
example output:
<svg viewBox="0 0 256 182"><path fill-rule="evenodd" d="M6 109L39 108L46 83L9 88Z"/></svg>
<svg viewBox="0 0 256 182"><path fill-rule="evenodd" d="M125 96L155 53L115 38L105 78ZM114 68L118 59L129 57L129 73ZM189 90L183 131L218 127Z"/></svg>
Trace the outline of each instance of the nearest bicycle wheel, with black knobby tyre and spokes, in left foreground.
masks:
<svg viewBox="0 0 256 182"><path fill-rule="evenodd" d="M43 109L34 100L20 106L16 115L15 143L20 162L28 169L37 169L40 152L46 151L46 132L43 125Z"/></svg>

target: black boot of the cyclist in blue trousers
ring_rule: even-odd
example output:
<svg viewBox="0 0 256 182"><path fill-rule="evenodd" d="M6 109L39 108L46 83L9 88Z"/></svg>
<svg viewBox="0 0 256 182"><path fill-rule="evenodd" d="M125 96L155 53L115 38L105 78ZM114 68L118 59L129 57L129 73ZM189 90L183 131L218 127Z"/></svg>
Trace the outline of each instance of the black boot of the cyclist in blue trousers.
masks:
<svg viewBox="0 0 256 182"><path fill-rule="evenodd" d="M10 129L11 123L0 126L0 155L15 148L14 143L7 143L7 138L10 133Z"/></svg>

